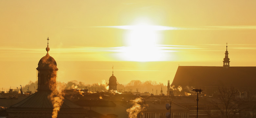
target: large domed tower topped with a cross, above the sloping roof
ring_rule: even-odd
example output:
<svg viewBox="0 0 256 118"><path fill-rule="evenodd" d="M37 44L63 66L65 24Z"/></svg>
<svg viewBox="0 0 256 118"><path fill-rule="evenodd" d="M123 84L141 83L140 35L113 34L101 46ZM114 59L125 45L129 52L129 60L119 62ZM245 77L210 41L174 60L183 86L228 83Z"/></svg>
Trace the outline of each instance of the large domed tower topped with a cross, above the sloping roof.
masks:
<svg viewBox="0 0 256 118"><path fill-rule="evenodd" d="M49 55L49 38L47 38L46 55L38 62L38 91L51 91L51 88L56 88L57 64L56 61Z"/></svg>

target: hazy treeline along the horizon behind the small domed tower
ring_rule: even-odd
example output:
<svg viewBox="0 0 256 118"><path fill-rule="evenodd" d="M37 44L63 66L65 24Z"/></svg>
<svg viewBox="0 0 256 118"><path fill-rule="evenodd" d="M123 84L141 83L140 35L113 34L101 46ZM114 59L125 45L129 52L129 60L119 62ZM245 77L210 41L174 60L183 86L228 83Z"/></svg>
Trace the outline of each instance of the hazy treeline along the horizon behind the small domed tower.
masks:
<svg viewBox="0 0 256 118"><path fill-rule="evenodd" d="M105 80L102 80L99 83L94 84L85 84L84 82L78 82L76 80L69 81L67 83L57 82L57 86L61 86L61 89L88 89L91 92L96 91L107 91L108 83ZM37 89L37 81L30 81L27 85L22 87L22 90L25 92L29 88L30 91L34 92ZM128 84L123 85L117 82L117 91L132 91L132 92L149 92L153 94L160 94L161 88L163 93L166 94L167 86L163 83L157 83L156 81L140 81L140 80L131 80Z"/></svg>

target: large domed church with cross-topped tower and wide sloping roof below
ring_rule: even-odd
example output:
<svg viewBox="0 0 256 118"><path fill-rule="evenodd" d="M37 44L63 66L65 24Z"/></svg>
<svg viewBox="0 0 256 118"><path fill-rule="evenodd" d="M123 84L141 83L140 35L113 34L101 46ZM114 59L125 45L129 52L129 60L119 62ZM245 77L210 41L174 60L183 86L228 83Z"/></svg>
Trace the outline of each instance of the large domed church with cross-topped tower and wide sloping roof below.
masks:
<svg viewBox="0 0 256 118"><path fill-rule="evenodd" d="M49 41L49 38L47 39ZM8 118L52 118L53 102L51 94L56 90L57 64L49 55L47 43L47 54L38 62L38 88L37 92L12 105L7 109ZM55 94L57 95L57 94ZM87 110L75 105L64 97L58 112L58 118L84 118ZM56 108L56 107L55 107Z"/></svg>

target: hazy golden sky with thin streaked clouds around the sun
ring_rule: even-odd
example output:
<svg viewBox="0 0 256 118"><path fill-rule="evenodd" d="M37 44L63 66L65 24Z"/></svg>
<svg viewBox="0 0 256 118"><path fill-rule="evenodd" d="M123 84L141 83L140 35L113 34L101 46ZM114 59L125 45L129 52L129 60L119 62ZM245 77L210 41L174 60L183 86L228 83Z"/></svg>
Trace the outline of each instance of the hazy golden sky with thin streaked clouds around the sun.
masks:
<svg viewBox="0 0 256 118"><path fill-rule="evenodd" d="M255 0L1 0L0 87L36 80L56 60L58 81L167 84L178 66L256 66Z"/></svg>

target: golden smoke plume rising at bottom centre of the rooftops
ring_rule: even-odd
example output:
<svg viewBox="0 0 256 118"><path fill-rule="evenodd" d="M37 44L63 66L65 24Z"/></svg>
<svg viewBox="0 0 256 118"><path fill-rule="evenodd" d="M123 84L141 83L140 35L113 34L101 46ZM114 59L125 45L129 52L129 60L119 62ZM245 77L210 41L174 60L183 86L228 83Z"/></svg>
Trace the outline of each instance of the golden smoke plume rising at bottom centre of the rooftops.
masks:
<svg viewBox="0 0 256 118"><path fill-rule="evenodd" d="M143 110L146 110L147 105L140 105L143 101L141 100L141 97L136 98L135 100L131 101L133 106L131 108L126 109L126 112L128 114L128 118L137 118L138 113L140 113Z"/></svg>

